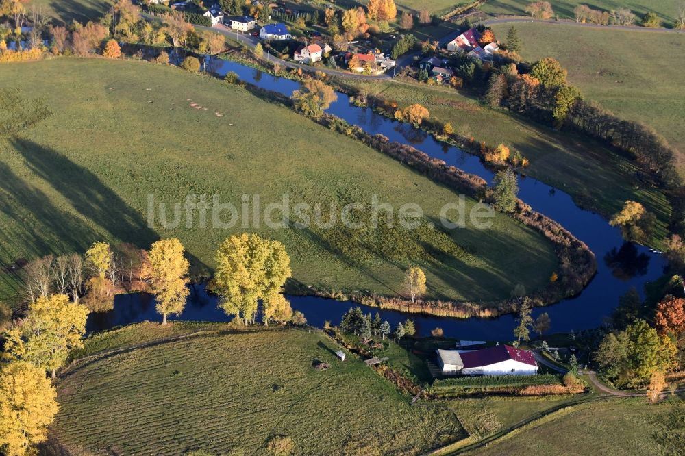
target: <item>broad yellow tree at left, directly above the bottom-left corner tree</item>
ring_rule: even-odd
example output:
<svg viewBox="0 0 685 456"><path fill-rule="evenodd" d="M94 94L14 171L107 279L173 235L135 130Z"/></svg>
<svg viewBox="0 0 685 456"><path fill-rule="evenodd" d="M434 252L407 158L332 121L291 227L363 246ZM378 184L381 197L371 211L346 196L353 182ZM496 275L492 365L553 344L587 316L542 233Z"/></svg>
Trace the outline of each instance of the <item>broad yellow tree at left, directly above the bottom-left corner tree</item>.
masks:
<svg viewBox="0 0 685 456"><path fill-rule="evenodd" d="M66 294L40 296L21 322L5 333L5 357L49 370L53 378L71 349L83 346L88 308Z"/></svg>

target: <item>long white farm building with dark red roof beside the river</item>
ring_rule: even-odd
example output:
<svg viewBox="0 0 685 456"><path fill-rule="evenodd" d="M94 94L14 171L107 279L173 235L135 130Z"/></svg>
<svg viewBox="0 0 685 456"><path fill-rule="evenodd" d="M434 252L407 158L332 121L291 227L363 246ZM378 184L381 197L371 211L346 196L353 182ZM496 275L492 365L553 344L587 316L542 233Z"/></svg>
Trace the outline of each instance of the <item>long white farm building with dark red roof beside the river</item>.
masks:
<svg viewBox="0 0 685 456"><path fill-rule="evenodd" d="M438 350L443 375L534 375L538 363L530 350L498 345L473 351Z"/></svg>

